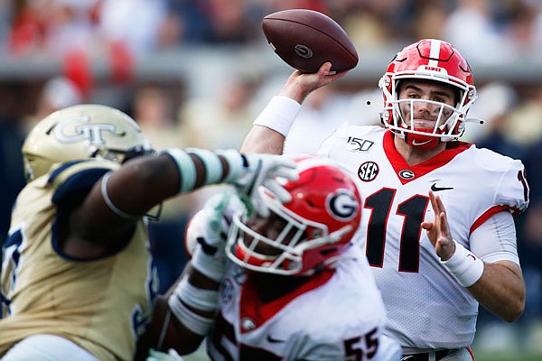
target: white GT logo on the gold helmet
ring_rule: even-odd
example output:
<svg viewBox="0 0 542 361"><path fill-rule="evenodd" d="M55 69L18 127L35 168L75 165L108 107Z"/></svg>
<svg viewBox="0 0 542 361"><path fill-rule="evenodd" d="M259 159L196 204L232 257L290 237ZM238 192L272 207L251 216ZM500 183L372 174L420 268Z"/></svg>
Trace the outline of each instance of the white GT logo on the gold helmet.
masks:
<svg viewBox="0 0 542 361"><path fill-rule="evenodd" d="M89 141L91 145L103 145L102 132L117 134L117 127L112 124L89 124L89 116L77 116L61 121L54 129L54 136L61 143L79 143ZM121 135L121 134L117 134Z"/></svg>

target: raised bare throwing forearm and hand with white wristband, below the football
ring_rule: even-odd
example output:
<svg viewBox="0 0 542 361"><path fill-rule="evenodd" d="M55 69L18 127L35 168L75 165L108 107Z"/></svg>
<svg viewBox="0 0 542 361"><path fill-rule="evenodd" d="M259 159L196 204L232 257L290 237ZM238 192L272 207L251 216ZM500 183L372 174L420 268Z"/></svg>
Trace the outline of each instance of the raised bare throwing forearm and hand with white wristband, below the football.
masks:
<svg viewBox="0 0 542 361"><path fill-rule="evenodd" d="M294 123L304 99L317 88L340 79L345 72L328 75L331 62L325 62L317 73L303 74L295 70L286 80L285 86L272 102L257 117L241 147L243 153L282 154L285 137ZM280 99L282 97L282 99ZM288 98L288 99L285 99ZM294 101L294 102L293 102ZM275 103L275 104L274 104Z"/></svg>

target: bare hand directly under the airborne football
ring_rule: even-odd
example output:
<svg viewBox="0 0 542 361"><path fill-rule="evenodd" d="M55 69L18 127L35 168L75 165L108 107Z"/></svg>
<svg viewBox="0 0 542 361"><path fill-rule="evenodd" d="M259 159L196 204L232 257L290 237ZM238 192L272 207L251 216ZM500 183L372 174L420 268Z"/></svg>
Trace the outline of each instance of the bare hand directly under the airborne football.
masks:
<svg viewBox="0 0 542 361"><path fill-rule="evenodd" d="M327 61L322 64L318 72L313 74L302 73L295 70L292 75L286 80L285 86L282 88L279 95L291 97L299 104L302 104L305 97L317 88L322 88L330 84L333 80L340 79L346 75L348 71L341 73L330 74L332 63Z"/></svg>

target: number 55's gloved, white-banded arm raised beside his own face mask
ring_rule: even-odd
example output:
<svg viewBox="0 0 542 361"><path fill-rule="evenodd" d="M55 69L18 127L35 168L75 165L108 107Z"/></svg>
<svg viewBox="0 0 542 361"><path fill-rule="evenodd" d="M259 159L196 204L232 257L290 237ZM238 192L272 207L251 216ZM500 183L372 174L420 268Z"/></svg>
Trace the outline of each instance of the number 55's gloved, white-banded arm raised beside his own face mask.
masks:
<svg viewBox="0 0 542 361"><path fill-rule="evenodd" d="M174 348L186 355L207 336L226 272L226 236L236 200L216 195L189 222L186 243L192 259L178 282L156 301L151 323L138 341L136 359L144 360L149 348L164 352Z"/></svg>

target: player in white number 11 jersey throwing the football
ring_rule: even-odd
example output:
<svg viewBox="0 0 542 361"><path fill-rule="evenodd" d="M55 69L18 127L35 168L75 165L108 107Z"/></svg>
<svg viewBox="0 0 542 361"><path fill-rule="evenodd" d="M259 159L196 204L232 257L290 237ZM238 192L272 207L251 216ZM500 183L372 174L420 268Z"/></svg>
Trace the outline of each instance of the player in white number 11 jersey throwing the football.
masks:
<svg viewBox="0 0 542 361"><path fill-rule="evenodd" d="M304 98L345 75L330 66L295 71L242 150L282 153ZM388 310L384 334L411 361L472 360L479 304L510 322L525 307L512 217L528 207L524 166L459 140L476 88L451 44L406 46L378 85L384 126L343 125L319 155L360 180L359 245Z"/></svg>

